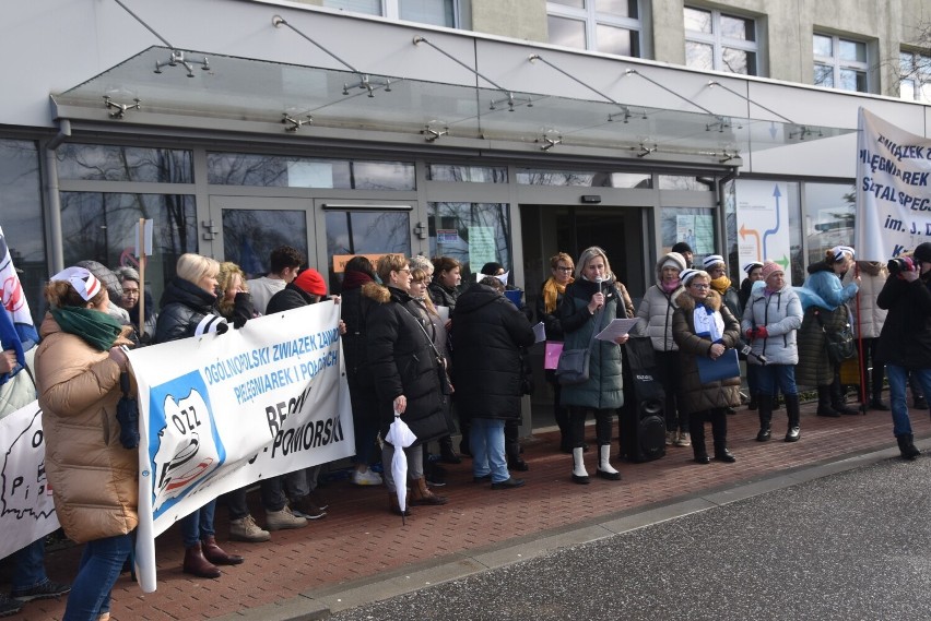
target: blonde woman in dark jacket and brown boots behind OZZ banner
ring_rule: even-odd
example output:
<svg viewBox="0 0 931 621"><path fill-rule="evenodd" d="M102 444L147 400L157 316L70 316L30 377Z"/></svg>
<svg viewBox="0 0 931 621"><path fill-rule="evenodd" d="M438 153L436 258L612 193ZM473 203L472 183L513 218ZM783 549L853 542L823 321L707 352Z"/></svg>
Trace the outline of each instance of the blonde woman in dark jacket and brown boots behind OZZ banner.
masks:
<svg viewBox="0 0 931 621"><path fill-rule="evenodd" d="M204 332L226 332L226 320L213 313L220 264L208 256L186 253L178 259L176 276L162 296L155 343L167 343ZM216 565L238 565L243 557L227 554L216 545L213 513L216 500L181 518L185 540L184 572L198 577L220 577Z"/></svg>

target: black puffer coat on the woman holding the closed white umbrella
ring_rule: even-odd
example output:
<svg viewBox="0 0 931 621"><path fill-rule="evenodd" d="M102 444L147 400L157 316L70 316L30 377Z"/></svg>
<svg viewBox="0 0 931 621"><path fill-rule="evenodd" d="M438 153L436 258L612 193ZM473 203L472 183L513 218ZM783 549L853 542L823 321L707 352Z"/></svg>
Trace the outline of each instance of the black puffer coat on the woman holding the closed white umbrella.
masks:
<svg viewBox="0 0 931 621"><path fill-rule="evenodd" d="M449 397L440 391L436 356L411 296L375 283L367 283L362 295L377 302L365 332L381 437L394 420L393 402L400 395L408 399L401 418L417 437L415 444L448 434L444 404Z"/></svg>

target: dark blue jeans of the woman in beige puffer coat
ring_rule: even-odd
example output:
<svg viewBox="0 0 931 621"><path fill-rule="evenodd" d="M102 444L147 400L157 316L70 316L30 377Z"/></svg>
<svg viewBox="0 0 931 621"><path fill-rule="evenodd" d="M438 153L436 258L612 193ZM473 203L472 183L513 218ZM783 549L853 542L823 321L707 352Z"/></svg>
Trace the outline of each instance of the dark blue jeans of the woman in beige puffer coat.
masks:
<svg viewBox="0 0 931 621"><path fill-rule="evenodd" d="M87 541L61 621L94 621L110 610L110 592L132 551L132 537Z"/></svg>

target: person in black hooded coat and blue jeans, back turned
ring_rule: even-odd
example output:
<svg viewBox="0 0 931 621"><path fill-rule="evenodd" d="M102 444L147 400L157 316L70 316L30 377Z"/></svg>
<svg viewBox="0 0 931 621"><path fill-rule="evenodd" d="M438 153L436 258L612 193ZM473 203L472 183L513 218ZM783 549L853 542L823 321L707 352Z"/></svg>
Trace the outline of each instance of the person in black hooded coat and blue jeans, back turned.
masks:
<svg viewBox="0 0 931 621"><path fill-rule="evenodd" d="M523 485L507 469L505 422L520 420L520 348L534 341L530 322L503 292L504 284L487 276L459 296L452 315L453 383L458 407L472 421L472 475L491 480L492 489Z"/></svg>

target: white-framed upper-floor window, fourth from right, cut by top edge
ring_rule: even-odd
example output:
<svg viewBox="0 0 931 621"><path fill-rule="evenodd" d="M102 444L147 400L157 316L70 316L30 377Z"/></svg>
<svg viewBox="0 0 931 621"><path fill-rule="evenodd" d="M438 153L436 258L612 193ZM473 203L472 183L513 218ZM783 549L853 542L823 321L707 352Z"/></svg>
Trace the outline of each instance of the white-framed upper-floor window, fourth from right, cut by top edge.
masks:
<svg viewBox="0 0 931 621"><path fill-rule="evenodd" d="M550 43L617 56L641 56L637 0L550 0Z"/></svg>

